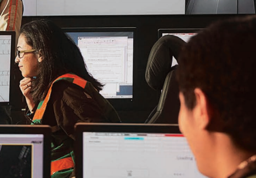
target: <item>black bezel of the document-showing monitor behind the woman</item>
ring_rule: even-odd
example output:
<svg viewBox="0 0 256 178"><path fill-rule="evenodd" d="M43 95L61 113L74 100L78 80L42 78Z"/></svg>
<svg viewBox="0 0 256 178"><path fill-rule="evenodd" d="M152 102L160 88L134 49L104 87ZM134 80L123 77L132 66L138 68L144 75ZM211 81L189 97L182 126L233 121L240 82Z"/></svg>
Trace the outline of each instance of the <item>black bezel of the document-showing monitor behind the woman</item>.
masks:
<svg viewBox="0 0 256 178"><path fill-rule="evenodd" d="M123 106L131 106L134 100L134 85L136 85L135 77L136 76L136 66L137 64L137 48L136 45L138 44L137 37L136 37L136 27L71 27L71 28L62 28L62 31L65 33L69 32L133 32L133 94L132 98L107 98L109 102L115 106L115 108L122 108Z"/></svg>

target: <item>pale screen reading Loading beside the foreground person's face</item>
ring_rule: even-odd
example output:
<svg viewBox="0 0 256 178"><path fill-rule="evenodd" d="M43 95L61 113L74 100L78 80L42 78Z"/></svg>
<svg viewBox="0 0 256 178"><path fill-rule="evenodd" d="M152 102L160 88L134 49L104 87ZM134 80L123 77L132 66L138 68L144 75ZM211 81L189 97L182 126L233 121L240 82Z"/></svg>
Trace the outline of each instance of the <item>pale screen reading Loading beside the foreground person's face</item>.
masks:
<svg viewBox="0 0 256 178"><path fill-rule="evenodd" d="M204 177L181 134L83 133L83 177Z"/></svg>

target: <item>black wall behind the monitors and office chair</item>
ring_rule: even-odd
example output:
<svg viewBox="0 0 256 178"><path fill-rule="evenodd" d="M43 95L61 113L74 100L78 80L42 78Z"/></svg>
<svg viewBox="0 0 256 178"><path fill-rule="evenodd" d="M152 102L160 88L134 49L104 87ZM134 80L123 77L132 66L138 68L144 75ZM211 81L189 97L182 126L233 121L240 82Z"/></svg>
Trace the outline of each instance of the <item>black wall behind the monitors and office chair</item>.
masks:
<svg viewBox="0 0 256 178"><path fill-rule="evenodd" d="M22 24L37 19L50 19L59 27L136 27L134 49L134 98L130 100L110 100L123 122L144 122L157 105L159 93L152 90L145 81L147 57L158 39L160 28L205 28L209 23L242 15L129 15L129 16L37 16L23 17ZM20 75L20 74L17 74ZM16 76L16 83L19 76ZM16 85L18 86L18 85ZM18 96L18 95L17 95ZM24 103L16 102L13 115L20 113ZM22 107L20 107L22 106ZM15 114L14 114L15 112Z"/></svg>

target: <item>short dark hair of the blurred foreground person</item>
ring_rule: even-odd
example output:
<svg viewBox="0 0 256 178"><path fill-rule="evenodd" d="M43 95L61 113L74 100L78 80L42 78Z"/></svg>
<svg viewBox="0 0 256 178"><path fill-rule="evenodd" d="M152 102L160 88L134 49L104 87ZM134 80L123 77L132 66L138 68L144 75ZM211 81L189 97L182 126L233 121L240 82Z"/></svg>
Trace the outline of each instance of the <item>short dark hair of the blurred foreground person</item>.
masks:
<svg viewBox="0 0 256 178"><path fill-rule="evenodd" d="M209 130L230 135L241 149L256 150L256 16L213 23L184 46L178 82L185 105L200 88L211 108Z"/></svg>

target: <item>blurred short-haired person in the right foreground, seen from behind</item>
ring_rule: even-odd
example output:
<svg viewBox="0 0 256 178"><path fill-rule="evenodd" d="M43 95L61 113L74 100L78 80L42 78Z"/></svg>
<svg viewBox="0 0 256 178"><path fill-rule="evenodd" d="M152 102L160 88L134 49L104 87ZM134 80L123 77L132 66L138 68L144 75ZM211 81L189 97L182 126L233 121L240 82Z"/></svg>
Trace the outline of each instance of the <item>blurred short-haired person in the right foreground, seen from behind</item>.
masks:
<svg viewBox="0 0 256 178"><path fill-rule="evenodd" d="M179 57L179 127L208 177L256 176L256 16L214 22Z"/></svg>

